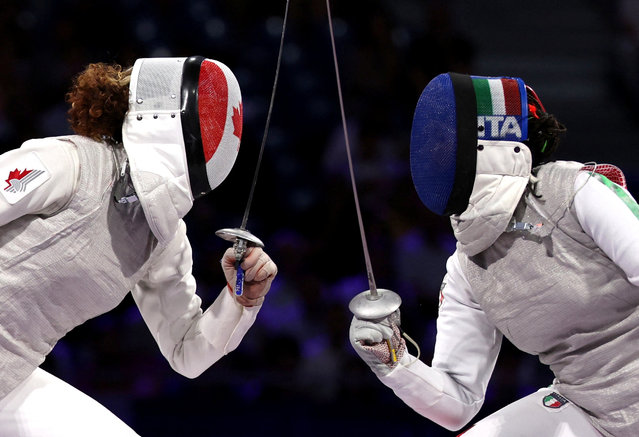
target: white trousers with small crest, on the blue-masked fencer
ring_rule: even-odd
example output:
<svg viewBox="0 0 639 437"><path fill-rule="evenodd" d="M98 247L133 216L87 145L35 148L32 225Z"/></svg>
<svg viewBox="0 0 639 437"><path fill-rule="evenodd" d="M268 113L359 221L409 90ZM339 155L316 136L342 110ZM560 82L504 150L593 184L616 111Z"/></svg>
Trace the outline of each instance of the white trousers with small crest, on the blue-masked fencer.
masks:
<svg viewBox="0 0 639 437"><path fill-rule="evenodd" d="M477 422L462 437L602 437L581 408L552 387Z"/></svg>

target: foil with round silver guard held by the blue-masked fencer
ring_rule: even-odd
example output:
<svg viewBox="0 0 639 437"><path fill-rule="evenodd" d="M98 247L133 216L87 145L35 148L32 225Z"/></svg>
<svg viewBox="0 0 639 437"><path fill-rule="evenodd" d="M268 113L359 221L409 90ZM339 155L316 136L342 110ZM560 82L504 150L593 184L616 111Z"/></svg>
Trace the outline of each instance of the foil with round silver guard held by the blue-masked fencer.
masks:
<svg viewBox="0 0 639 437"><path fill-rule="evenodd" d="M364 260L366 263L366 273L368 277L369 290L359 293L349 303L348 308L360 320L379 320L384 319L393 314L401 305L402 299L397 293L391 290L378 289L375 285L375 277L373 276L373 267L370 261L368 245L366 244L366 234L364 232L364 223L362 220L361 208L359 206L359 198L357 196L357 186L355 183L355 172L353 170L353 160L351 158L351 148L348 140L348 128L346 126L346 115L344 111L344 99L342 97L342 85L339 78L339 67L337 65L337 50L335 48L335 35L333 32L333 20L331 18L330 1L326 0L326 11L328 16L328 25L331 37L331 45L333 49L333 63L335 65L335 79L337 81L337 93L342 116L342 127L344 130L344 144L346 145L346 156L348 158L348 169L351 177L351 187L353 190L353 198L355 201L355 210L357 211L357 220L359 224L359 233L362 239L362 248L364 250ZM393 356L394 347L387 342L389 353Z"/></svg>

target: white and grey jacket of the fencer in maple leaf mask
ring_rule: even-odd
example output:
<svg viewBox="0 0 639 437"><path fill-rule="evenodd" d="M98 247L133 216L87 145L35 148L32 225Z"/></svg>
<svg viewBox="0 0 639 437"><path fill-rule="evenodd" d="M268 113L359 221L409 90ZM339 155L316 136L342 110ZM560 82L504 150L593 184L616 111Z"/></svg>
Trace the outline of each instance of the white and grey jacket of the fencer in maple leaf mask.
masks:
<svg viewBox="0 0 639 437"><path fill-rule="evenodd" d="M0 398L66 332L129 291L162 354L190 378L235 349L255 321L260 307L238 304L227 287L202 310L181 219L158 244L139 202L113 201L125 159L80 136L0 155Z"/></svg>

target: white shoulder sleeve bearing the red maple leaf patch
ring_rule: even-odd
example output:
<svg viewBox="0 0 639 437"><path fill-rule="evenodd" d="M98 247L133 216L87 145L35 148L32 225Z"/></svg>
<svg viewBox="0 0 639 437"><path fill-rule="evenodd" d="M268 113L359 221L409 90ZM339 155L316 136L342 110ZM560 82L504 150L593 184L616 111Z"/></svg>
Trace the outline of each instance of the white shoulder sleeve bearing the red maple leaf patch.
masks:
<svg viewBox="0 0 639 437"><path fill-rule="evenodd" d="M58 211L79 174L75 145L55 138L29 140L0 155L0 226L27 214Z"/></svg>

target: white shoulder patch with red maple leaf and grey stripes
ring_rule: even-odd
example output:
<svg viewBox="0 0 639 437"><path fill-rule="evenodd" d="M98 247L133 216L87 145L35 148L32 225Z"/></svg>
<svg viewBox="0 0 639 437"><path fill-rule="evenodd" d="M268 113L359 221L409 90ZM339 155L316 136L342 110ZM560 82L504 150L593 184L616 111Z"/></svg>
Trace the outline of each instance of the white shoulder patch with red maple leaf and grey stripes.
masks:
<svg viewBox="0 0 639 437"><path fill-rule="evenodd" d="M0 191L7 202L13 205L50 177L38 155L30 152L0 167Z"/></svg>

